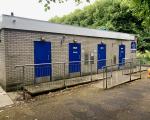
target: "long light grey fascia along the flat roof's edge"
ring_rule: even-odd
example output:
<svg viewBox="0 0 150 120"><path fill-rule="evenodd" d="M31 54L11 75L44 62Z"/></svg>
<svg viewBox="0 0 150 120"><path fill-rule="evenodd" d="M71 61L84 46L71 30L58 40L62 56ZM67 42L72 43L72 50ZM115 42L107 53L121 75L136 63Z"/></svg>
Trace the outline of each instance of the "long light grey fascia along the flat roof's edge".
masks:
<svg viewBox="0 0 150 120"><path fill-rule="evenodd" d="M48 21L16 17L4 14L0 17L0 29L2 28L71 34L89 37L111 38L111 39L135 40L134 34L50 23Z"/></svg>

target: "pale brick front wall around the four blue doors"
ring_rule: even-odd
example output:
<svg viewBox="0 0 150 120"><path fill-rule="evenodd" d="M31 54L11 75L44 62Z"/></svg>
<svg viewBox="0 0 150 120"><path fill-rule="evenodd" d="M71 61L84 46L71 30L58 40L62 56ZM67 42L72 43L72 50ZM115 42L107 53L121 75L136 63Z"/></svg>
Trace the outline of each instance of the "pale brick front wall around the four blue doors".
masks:
<svg viewBox="0 0 150 120"><path fill-rule="evenodd" d="M21 30L5 30L5 47L6 47L6 79L7 86L11 87L21 81L22 73L16 72L16 65L34 64L34 45L33 42L44 37L52 45L52 62L68 62L68 44L77 40L81 43L81 59L84 60L84 54L92 53L94 55L93 71L97 71L97 44L103 42L107 44L107 59L113 59L114 55L118 63L118 45L121 44L120 40L109 40L103 38L81 37L73 35L65 35L65 40L62 40L61 34L31 32ZM126 45L126 57L130 58L135 54L130 52L130 41L122 41ZM88 72L88 65L82 64L82 72ZM19 71L21 71L21 68ZM52 66L53 80L57 77L63 76L63 65ZM65 69L66 75L68 74L68 66ZM27 80L33 81L34 68L28 68Z"/></svg>

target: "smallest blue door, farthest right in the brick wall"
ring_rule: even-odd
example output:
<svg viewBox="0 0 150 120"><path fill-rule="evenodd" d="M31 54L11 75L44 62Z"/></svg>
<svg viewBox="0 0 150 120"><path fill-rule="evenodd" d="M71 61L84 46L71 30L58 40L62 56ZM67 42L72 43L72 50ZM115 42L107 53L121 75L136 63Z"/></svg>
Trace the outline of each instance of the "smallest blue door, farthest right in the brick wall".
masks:
<svg viewBox="0 0 150 120"><path fill-rule="evenodd" d="M125 45L121 44L119 45L119 66L124 65L124 59L125 59Z"/></svg>

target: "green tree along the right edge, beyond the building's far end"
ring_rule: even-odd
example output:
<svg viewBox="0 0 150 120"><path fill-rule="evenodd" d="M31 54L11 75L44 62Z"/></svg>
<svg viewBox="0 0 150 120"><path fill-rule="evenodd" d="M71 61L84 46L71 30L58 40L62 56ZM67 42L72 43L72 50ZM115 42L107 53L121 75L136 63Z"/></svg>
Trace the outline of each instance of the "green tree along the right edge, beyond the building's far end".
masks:
<svg viewBox="0 0 150 120"><path fill-rule="evenodd" d="M150 37L150 0L132 0L127 2L128 6L132 10L134 16L142 20L143 31L140 31L138 49L142 52L150 50L150 43L144 41L145 38Z"/></svg>

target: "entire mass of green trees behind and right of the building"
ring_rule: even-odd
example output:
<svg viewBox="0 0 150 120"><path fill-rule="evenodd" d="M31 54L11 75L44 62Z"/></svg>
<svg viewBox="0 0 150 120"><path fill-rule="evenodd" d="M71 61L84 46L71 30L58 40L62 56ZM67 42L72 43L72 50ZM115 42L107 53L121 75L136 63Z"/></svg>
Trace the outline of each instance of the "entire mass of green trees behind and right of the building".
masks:
<svg viewBox="0 0 150 120"><path fill-rule="evenodd" d="M150 0L97 0L50 22L136 34L138 50L144 52L150 47L143 41L150 37Z"/></svg>

